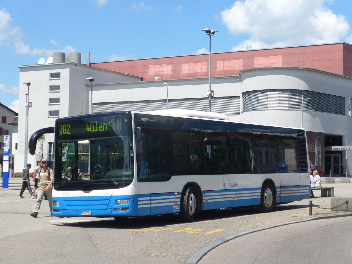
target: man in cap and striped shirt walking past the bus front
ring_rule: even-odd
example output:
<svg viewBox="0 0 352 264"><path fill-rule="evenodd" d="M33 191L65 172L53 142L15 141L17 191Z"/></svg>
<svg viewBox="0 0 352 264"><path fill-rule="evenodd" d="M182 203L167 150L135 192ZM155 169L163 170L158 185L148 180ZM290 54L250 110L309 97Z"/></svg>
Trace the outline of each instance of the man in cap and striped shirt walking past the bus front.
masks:
<svg viewBox="0 0 352 264"><path fill-rule="evenodd" d="M54 172L51 168L48 167L48 161L46 159L42 159L42 169L39 171L39 190L37 200L34 203L31 216L37 217L40 204L42 203L44 194L48 197L49 207L50 207L50 216L52 216L52 199L51 199L51 192L52 192L52 183L54 181Z"/></svg>

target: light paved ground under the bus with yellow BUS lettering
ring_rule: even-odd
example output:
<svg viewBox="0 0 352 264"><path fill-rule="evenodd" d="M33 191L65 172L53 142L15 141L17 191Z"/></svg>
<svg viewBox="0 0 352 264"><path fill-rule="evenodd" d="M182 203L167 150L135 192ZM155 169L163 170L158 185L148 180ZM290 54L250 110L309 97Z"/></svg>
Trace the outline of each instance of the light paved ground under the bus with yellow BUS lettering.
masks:
<svg viewBox="0 0 352 264"><path fill-rule="evenodd" d="M215 251L204 251L205 247L239 232L351 214L313 208L314 215L309 216L309 199L305 199L270 213L253 208L201 213L191 223L180 223L176 215L119 222L50 217L48 202L43 201L38 218L32 218L34 200L27 191L26 199L18 199L20 180L11 179L10 188L0 189L1 263L192 263L189 259L196 252L209 252L209 257ZM352 184L340 186L335 187L335 196L352 197ZM316 197L314 204L328 207L330 197ZM232 256L233 250L228 253Z"/></svg>

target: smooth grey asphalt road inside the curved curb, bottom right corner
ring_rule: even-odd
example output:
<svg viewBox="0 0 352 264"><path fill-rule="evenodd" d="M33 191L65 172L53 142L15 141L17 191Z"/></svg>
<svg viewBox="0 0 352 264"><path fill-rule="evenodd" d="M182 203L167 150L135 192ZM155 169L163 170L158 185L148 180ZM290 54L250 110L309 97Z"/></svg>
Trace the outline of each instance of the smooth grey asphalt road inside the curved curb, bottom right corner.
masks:
<svg viewBox="0 0 352 264"><path fill-rule="evenodd" d="M351 263L351 228L351 216L280 226L235 238L198 263Z"/></svg>

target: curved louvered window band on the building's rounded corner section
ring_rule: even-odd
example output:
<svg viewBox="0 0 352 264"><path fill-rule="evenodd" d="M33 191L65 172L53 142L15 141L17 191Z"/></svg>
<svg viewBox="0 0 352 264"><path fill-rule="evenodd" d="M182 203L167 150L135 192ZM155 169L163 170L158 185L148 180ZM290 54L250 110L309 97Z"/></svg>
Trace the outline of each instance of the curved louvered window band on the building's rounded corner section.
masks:
<svg viewBox="0 0 352 264"><path fill-rule="evenodd" d="M243 111L258 109L303 109L345 115L345 98L304 90L272 89L242 93Z"/></svg>

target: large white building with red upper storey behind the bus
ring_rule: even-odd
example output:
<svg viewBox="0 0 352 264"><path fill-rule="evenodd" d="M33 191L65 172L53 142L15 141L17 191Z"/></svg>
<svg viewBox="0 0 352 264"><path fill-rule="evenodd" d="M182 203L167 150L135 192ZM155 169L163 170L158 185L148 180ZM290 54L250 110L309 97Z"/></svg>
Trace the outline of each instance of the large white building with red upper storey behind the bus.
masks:
<svg viewBox="0 0 352 264"><path fill-rule="evenodd" d="M349 176L352 152L325 148L352 146L351 47L336 43L212 54L212 112L237 121L303 126L309 159L321 176L330 171L341 176L345 169ZM93 113L165 108L208 111L208 59L208 55L189 55L91 65L81 64L80 59L63 62L54 54L54 63L19 67L19 105L26 100L23 83L30 81L29 135L54 126L57 117L89 113L91 96ZM157 76L162 79L154 81ZM93 83L87 77L93 77ZM23 143L18 144L15 171L24 163L24 118L25 107L19 109L18 137ZM49 160L53 141L53 134L46 135L44 157ZM28 157L29 163L36 163L36 157Z"/></svg>

